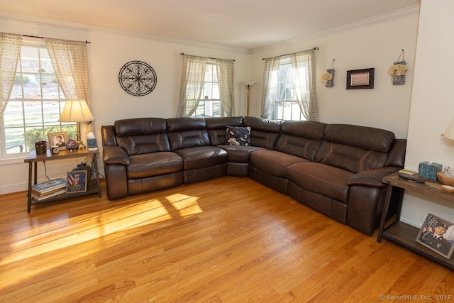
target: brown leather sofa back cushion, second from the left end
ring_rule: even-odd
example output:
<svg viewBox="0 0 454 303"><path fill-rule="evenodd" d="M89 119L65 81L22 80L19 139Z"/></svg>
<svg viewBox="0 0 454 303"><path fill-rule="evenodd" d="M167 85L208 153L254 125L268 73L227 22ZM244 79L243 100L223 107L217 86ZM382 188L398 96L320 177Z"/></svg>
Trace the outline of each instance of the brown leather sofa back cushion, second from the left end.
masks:
<svg viewBox="0 0 454 303"><path fill-rule="evenodd" d="M170 150L211 145L204 118L170 118L166 122Z"/></svg>

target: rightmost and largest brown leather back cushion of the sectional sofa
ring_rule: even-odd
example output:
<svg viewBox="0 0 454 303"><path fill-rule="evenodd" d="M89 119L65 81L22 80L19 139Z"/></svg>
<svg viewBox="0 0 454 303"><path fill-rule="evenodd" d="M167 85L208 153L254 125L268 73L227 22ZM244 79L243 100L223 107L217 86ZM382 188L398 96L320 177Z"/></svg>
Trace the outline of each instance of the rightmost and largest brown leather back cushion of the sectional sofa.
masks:
<svg viewBox="0 0 454 303"><path fill-rule="evenodd" d="M316 162L362 172L383 167L394 143L394 133L379 128L329 124Z"/></svg>

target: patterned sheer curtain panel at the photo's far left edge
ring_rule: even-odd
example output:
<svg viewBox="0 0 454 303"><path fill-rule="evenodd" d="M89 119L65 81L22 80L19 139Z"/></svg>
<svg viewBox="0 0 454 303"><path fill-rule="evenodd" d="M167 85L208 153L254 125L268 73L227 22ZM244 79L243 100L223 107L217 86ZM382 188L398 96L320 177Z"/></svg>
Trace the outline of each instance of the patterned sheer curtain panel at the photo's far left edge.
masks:
<svg viewBox="0 0 454 303"><path fill-rule="evenodd" d="M3 118L13 90L21 46L22 35L0 33L0 119Z"/></svg>

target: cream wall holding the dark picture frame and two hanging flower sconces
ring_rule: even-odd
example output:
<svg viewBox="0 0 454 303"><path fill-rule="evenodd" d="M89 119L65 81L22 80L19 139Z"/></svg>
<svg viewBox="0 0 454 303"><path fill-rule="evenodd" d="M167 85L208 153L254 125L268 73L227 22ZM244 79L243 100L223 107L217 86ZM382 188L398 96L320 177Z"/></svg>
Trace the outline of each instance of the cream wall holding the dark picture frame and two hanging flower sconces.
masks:
<svg viewBox="0 0 454 303"><path fill-rule="evenodd" d="M401 12L403 16L364 21L339 31L326 31L314 38L296 39L253 50L252 77L258 81L251 89L251 109L260 116L262 96L263 57L273 57L299 50L318 47L317 99L320 121L326 123L353 123L386 128L398 138L408 133L411 87L418 30L418 9ZM388 67L405 50L405 85L394 86L387 74ZM335 58L334 87L327 88L319 81ZM375 68L374 89L345 89L347 70Z"/></svg>

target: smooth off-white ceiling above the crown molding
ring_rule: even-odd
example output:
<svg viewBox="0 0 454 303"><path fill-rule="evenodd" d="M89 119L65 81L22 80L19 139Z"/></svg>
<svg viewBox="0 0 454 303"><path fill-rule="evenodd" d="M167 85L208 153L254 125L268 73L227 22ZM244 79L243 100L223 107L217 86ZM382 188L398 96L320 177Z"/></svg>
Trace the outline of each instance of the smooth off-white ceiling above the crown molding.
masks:
<svg viewBox="0 0 454 303"><path fill-rule="evenodd" d="M419 5L421 0L0 0L0 16L253 49Z"/></svg>

